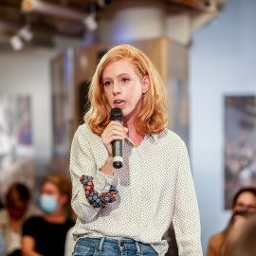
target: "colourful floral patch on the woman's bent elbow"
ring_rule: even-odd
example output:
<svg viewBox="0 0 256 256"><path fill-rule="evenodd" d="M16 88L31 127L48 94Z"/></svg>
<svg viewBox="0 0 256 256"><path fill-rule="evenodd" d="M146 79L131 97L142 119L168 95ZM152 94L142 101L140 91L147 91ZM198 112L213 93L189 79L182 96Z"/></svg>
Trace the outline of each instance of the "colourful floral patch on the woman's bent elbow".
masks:
<svg viewBox="0 0 256 256"><path fill-rule="evenodd" d="M105 208L107 203L112 203L116 200L119 193L113 185L110 187L109 192L96 192L92 176L82 175L80 181L83 185L87 201L94 208Z"/></svg>

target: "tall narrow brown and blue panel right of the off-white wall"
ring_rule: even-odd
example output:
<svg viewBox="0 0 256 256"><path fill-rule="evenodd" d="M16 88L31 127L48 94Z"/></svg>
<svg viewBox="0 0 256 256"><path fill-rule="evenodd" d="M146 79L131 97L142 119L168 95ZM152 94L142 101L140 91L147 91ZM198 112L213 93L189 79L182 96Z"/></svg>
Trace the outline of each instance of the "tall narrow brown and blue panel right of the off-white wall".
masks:
<svg viewBox="0 0 256 256"><path fill-rule="evenodd" d="M51 61L52 160L51 172L69 175L72 52L66 50Z"/></svg>

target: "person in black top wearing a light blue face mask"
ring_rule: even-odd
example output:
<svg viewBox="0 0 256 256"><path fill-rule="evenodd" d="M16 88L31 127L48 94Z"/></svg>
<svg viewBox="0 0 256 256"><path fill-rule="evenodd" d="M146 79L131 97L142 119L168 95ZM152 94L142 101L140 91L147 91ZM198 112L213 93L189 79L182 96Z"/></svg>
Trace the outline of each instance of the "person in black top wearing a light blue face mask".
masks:
<svg viewBox="0 0 256 256"><path fill-rule="evenodd" d="M71 183L62 174L50 174L42 185L40 208L43 216L31 217L23 227L23 256L64 256L67 231L74 222L66 217Z"/></svg>

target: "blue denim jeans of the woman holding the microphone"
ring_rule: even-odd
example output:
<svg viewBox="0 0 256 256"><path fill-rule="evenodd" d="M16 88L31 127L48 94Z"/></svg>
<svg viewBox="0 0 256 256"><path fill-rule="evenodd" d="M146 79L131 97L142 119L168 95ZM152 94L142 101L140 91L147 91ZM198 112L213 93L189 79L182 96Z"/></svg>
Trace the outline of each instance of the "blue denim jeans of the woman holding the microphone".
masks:
<svg viewBox="0 0 256 256"><path fill-rule="evenodd" d="M73 256L157 256L150 245L132 239L80 238L74 248Z"/></svg>

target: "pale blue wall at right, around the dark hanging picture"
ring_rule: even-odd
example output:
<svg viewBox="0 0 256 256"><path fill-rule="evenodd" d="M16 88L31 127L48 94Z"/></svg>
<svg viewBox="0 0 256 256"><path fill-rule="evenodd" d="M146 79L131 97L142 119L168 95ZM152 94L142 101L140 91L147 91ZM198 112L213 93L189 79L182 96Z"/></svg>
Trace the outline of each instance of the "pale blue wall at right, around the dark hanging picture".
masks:
<svg viewBox="0 0 256 256"><path fill-rule="evenodd" d="M224 210L224 96L256 95L256 1L226 3L218 19L194 34L190 56L191 160L205 252L210 235L230 217Z"/></svg>

